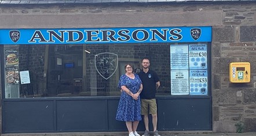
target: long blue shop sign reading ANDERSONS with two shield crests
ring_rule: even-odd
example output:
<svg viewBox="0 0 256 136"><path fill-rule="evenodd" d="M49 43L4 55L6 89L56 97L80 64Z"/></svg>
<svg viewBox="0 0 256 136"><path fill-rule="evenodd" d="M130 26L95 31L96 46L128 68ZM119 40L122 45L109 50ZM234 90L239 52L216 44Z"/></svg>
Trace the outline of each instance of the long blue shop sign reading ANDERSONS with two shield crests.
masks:
<svg viewBox="0 0 256 136"><path fill-rule="evenodd" d="M211 27L0 29L0 35L0 44L209 42Z"/></svg>

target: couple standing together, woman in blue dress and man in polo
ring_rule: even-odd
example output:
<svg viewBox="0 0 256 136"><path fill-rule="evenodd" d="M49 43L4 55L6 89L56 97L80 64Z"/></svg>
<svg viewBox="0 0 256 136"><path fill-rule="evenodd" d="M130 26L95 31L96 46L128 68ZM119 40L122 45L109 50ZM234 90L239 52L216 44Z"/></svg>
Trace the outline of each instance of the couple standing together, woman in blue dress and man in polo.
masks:
<svg viewBox="0 0 256 136"><path fill-rule="evenodd" d="M143 70L138 74L133 73L133 66L125 65L126 74L121 75L118 84L118 87L122 89L122 93L116 120L126 122L129 136L140 136L137 133L137 127L141 120L141 115L144 115L145 133L142 136L147 136L149 135L149 110L149 114L152 115L153 135L160 136L158 130L156 130L158 116L155 99L156 89L160 86L159 78L155 71L149 70L150 63L148 58L142 59L141 62Z"/></svg>

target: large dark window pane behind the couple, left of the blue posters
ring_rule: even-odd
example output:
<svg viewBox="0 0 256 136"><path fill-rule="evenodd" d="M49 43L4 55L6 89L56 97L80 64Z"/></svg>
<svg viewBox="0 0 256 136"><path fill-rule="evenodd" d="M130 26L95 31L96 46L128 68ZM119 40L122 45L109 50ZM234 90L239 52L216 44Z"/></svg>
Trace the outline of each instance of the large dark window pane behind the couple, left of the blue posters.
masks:
<svg viewBox="0 0 256 136"><path fill-rule="evenodd" d="M138 73L145 56L160 78L156 95L171 95L169 43L3 47L6 98L120 96L117 85L125 64Z"/></svg>

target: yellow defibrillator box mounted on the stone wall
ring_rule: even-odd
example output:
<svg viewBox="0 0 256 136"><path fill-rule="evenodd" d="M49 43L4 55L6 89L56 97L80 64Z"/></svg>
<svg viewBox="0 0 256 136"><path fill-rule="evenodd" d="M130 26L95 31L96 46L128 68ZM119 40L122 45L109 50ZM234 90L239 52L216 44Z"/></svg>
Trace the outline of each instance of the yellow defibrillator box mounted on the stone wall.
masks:
<svg viewBox="0 0 256 136"><path fill-rule="evenodd" d="M232 62L229 64L229 81L234 83L250 82L250 63Z"/></svg>

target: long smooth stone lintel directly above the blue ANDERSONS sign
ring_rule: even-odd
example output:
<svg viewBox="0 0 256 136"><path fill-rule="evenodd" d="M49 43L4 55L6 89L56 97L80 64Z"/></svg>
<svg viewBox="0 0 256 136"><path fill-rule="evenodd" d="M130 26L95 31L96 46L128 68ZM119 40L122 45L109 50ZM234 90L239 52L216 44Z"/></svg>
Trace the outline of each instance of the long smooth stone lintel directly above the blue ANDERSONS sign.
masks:
<svg viewBox="0 0 256 136"><path fill-rule="evenodd" d="M114 9L113 9L114 10ZM76 10L71 10L71 12ZM191 13L96 13L90 14L20 14L0 16L0 28L97 28L97 27L170 27L221 25L220 12ZM62 12L68 12L63 10ZM65 18L65 21L63 21ZM88 19L89 18L89 19ZM92 19L93 18L93 19ZM31 21L32 20L32 21ZM226 36L225 36L226 37Z"/></svg>

